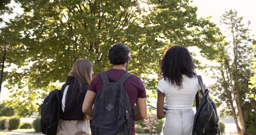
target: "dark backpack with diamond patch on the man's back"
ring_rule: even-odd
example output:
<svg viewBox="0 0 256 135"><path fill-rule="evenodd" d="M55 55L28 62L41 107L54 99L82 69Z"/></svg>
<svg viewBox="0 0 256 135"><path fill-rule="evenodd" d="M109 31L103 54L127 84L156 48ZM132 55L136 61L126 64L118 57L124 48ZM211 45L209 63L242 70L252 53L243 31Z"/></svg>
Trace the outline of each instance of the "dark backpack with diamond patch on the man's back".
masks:
<svg viewBox="0 0 256 135"><path fill-rule="evenodd" d="M94 101L90 121L92 135L130 135L131 104L122 84L132 74L127 72L116 82L109 79L106 72L99 75L103 84Z"/></svg>

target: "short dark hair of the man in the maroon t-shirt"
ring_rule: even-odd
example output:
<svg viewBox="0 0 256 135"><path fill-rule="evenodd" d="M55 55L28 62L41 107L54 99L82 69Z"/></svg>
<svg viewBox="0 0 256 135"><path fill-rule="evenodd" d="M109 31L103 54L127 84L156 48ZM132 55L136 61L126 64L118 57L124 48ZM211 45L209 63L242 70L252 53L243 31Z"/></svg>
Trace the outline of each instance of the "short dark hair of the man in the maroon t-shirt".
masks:
<svg viewBox="0 0 256 135"><path fill-rule="evenodd" d="M108 60L111 64L125 64L130 57L130 48L123 43L116 43L108 50Z"/></svg>

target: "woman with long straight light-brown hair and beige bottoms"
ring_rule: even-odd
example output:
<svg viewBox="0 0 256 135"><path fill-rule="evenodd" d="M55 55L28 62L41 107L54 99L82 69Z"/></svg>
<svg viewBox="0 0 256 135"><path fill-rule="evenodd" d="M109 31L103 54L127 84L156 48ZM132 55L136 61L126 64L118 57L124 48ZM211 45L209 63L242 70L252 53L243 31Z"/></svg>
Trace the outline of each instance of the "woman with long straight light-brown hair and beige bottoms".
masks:
<svg viewBox="0 0 256 135"><path fill-rule="evenodd" d="M92 81L92 62L79 59L61 89L62 112L57 135L90 135L89 117L82 112L88 85Z"/></svg>

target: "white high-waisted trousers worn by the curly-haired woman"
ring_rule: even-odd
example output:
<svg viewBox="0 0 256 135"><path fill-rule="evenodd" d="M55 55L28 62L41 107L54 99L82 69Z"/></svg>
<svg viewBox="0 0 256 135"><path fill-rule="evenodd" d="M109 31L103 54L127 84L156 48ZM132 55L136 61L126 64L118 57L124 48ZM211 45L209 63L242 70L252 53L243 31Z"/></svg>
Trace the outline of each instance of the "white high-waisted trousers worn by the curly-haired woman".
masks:
<svg viewBox="0 0 256 135"><path fill-rule="evenodd" d="M192 135L193 109L170 109L164 123L164 135Z"/></svg>

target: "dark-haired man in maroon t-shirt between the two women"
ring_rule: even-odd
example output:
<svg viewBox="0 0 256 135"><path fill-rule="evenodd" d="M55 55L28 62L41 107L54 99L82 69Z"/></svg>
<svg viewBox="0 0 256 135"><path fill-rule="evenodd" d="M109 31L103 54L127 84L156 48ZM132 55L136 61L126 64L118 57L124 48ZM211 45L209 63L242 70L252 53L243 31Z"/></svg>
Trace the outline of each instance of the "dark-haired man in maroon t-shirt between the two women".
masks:
<svg viewBox="0 0 256 135"><path fill-rule="evenodd" d="M106 71L106 74L111 79L117 81L121 76L123 76L127 71L129 63L130 49L127 45L119 43L115 44L108 51L108 60L113 64L113 68ZM125 91L127 92L130 103L131 110L133 110L135 103L138 107L138 113L134 116L134 121L131 126L131 135L135 135L135 121L140 121L147 116L147 105L146 105L146 90L141 79L135 75L129 77L123 83ZM102 87L102 79L98 74L92 79L91 84L88 87L87 93L85 95L85 100L82 106L82 111L90 116L92 116L92 105L95 100L95 96Z"/></svg>

